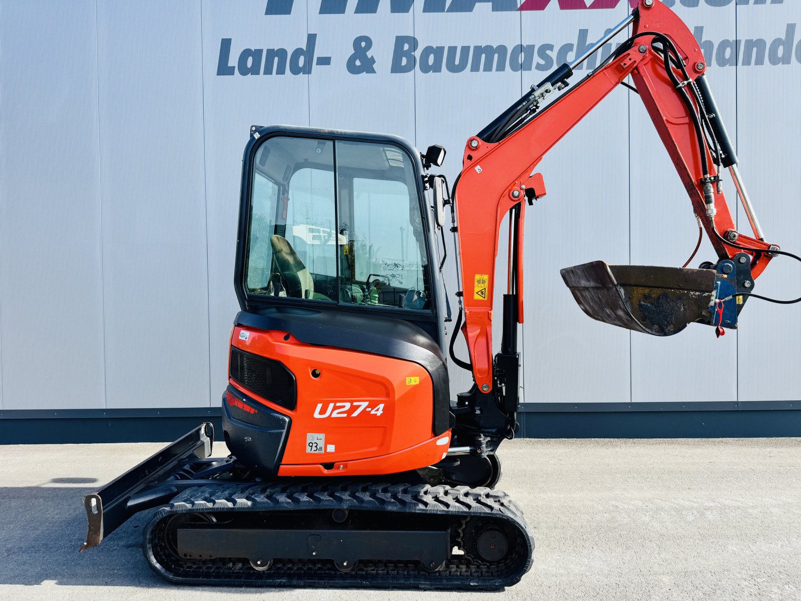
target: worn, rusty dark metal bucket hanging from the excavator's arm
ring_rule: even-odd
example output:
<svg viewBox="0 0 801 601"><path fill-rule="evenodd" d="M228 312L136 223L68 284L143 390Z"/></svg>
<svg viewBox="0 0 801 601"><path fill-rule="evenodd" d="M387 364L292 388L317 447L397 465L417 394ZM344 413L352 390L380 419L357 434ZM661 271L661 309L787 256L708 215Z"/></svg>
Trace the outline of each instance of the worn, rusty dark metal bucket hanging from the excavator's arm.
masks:
<svg viewBox="0 0 801 601"><path fill-rule="evenodd" d="M584 313L607 324L673 336L693 321L710 323L715 272L594 261L562 269Z"/></svg>

